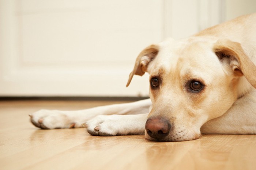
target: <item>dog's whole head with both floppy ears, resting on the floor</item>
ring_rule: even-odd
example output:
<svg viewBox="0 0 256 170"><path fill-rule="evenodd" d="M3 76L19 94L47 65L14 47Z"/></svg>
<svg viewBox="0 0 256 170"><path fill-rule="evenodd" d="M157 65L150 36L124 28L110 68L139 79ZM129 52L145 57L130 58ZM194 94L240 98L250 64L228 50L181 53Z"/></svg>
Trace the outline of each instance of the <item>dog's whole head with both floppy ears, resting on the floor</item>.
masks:
<svg viewBox="0 0 256 170"><path fill-rule="evenodd" d="M129 76L150 74L152 109L145 135L153 141L187 141L223 115L250 88L256 67L239 43L168 40L145 48ZM242 89L242 90L241 90Z"/></svg>

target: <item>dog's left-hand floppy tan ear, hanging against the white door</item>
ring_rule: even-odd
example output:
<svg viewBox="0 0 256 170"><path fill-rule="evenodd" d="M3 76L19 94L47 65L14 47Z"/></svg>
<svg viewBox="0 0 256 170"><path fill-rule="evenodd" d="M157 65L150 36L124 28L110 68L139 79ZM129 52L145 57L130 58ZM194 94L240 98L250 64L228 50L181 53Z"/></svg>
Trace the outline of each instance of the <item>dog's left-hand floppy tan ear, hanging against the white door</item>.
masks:
<svg viewBox="0 0 256 170"><path fill-rule="evenodd" d="M154 58L157 56L159 51L159 47L157 45L151 45L142 50L140 54L138 55L135 66L132 70L132 72L129 75L129 80L127 82L126 87L129 86L131 83L133 75L144 75L147 71L148 63L150 63Z"/></svg>

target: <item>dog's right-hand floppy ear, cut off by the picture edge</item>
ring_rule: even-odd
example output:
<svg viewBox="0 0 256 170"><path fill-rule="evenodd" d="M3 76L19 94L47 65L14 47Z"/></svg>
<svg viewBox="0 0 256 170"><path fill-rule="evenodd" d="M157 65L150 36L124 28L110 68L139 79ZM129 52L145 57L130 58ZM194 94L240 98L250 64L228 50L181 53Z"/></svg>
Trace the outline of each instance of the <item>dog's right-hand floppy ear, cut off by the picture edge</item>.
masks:
<svg viewBox="0 0 256 170"><path fill-rule="evenodd" d="M256 88L256 66L245 54L240 43L219 40L214 46L214 52L221 62L230 65L235 76L244 75L248 82Z"/></svg>

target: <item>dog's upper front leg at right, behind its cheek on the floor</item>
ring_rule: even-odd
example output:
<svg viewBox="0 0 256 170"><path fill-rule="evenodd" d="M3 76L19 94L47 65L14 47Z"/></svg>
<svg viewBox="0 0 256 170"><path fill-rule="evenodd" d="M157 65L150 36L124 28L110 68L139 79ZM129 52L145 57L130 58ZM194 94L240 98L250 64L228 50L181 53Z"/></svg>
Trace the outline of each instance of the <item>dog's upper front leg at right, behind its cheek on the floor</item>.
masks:
<svg viewBox="0 0 256 170"><path fill-rule="evenodd" d="M256 90L234 102L221 117L201 127L204 134L256 134Z"/></svg>

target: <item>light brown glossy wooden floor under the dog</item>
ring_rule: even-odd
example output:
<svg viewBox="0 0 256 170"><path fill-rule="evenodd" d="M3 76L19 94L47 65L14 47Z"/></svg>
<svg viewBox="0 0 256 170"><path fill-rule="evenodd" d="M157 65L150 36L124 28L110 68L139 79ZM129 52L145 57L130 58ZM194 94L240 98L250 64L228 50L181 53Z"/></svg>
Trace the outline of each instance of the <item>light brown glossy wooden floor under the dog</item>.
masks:
<svg viewBox="0 0 256 170"><path fill-rule="evenodd" d="M256 135L203 135L151 142L143 135L94 137L85 129L40 130L28 114L121 102L0 101L0 169L256 169Z"/></svg>

